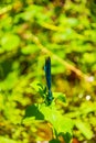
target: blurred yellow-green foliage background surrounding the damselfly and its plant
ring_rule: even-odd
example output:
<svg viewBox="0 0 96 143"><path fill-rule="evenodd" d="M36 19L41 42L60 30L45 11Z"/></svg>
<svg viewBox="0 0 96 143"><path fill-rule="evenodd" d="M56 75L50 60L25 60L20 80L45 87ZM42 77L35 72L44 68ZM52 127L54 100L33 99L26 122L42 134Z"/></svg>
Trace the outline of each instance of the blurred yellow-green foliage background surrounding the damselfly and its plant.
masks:
<svg viewBox="0 0 96 143"><path fill-rule="evenodd" d="M76 121L73 143L96 142L96 2L0 0L0 143L35 142L20 123L49 55L52 90L67 100L60 110Z"/></svg>

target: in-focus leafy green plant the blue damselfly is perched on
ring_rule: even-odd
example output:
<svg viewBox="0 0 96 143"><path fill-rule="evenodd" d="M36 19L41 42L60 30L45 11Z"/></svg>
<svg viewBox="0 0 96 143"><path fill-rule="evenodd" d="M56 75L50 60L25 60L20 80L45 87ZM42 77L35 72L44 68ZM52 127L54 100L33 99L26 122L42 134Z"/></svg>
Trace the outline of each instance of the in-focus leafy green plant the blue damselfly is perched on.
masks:
<svg viewBox="0 0 96 143"><path fill-rule="evenodd" d="M46 95L45 90L43 89L42 85L40 85L39 92L41 97L44 97ZM44 95L44 96L43 96ZM73 121L71 118L66 118L64 114L61 113L60 110L57 110L55 101L60 101L61 103L65 103L65 96L63 94L53 94L54 100L51 105L47 105L47 102L43 99L42 103L35 103L32 106L29 106L25 110L25 116L23 119L23 122L29 122L33 119L33 123L39 122L41 123L44 121L47 121L51 123L52 128L52 139L50 139L50 142L57 142L60 136L62 136L65 141L65 143L71 143L72 140L72 132L73 132ZM54 139L54 140L53 140ZM41 139L41 136L36 135L36 140L44 140Z"/></svg>

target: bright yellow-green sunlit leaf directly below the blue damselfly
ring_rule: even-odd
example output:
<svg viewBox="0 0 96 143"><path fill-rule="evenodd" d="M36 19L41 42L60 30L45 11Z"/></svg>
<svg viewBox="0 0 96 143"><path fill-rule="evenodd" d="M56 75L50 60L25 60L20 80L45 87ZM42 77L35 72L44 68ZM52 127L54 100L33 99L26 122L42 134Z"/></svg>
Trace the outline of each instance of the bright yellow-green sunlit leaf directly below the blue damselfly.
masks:
<svg viewBox="0 0 96 143"><path fill-rule="evenodd" d="M73 128L72 120L70 118L63 117L60 113L60 111L57 111L54 105L51 105L50 107L42 105L40 111L44 114L45 120L50 121L53 124L57 134L61 132L72 133L72 128Z"/></svg>

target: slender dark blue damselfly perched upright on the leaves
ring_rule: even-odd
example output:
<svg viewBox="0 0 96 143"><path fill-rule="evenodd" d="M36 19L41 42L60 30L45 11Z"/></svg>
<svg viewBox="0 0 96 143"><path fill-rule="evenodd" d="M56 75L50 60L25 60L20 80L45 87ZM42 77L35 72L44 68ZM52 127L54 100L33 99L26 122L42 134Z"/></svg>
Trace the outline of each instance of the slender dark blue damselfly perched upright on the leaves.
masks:
<svg viewBox="0 0 96 143"><path fill-rule="evenodd" d="M45 59L44 70L45 70L45 78L46 78L46 85L47 85L46 100L49 105L51 105L53 100L53 95L51 90L52 77L51 77L51 57L50 56Z"/></svg>

